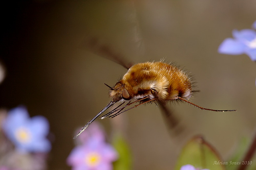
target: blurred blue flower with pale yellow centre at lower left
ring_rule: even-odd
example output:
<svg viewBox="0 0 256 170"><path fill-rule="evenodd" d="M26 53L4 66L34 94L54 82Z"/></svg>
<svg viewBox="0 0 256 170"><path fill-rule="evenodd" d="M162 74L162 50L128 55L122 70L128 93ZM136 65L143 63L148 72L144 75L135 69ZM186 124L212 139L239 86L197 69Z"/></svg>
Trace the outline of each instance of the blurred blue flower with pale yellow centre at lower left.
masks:
<svg viewBox="0 0 256 170"><path fill-rule="evenodd" d="M46 135L49 123L43 116L29 117L25 107L16 107L8 112L2 124L4 133L21 152L48 152L51 144Z"/></svg>

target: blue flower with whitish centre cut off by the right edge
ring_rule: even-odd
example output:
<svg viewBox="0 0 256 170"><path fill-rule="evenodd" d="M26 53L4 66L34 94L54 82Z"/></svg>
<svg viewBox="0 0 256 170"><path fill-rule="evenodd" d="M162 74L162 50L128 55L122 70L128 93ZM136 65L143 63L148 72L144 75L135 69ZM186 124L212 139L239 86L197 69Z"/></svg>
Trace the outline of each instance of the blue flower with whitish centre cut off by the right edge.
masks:
<svg viewBox="0 0 256 170"><path fill-rule="evenodd" d="M253 24L256 29L256 21ZM225 39L219 46L218 52L229 55L245 53L252 61L256 61L256 31L253 29L234 30L233 38Z"/></svg>

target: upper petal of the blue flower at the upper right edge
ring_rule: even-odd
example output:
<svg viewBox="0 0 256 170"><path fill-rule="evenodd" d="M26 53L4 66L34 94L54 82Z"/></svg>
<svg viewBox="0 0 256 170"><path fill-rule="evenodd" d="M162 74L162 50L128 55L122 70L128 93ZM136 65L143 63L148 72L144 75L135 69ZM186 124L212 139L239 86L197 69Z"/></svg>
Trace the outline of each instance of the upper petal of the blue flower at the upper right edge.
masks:
<svg viewBox="0 0 256 170"><path fill-rule="evenodd" d="M256 32L252 29L242 29L241 31L234 30L232 32L235 39L238 41L252 41L256 37Z"/></svg>

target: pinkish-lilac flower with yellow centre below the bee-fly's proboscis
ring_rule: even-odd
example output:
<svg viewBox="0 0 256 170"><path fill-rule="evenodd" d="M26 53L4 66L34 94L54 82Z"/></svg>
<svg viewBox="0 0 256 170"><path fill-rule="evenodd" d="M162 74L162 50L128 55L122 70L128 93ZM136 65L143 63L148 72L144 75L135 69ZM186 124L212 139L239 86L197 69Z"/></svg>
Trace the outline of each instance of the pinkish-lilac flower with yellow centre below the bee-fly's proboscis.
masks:
<svg viewBox="0 0 256 170"><path fill-rule="evenodd" d="M67 158L72 170L112 170L112 162L118 155L116 150L105 142L104 132L94 123L78 138L83 141L75 147Z"/></svg>

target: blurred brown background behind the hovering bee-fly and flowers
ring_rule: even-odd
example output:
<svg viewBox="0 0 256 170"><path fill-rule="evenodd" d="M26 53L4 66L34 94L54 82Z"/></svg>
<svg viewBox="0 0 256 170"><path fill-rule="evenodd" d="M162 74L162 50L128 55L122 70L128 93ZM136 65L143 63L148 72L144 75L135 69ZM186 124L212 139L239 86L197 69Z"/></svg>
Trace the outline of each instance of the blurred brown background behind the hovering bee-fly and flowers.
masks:
<svg viewBox="0 0 256 170"><path fill-rule="evenodd" d="M127 61L174 61L196 78L200 92L188 104L171 105L185 135L170 136L155 105L138 107L115 119L100 121L111 136L115 121L132 149L138 170L169 170L190 137L202 134L224 159L256 125L256 63L246 55L217 52L233 29L251 28L253 0L34 0L2 8L0 59L6 79L0 84L0 106L27 106L44 115L55 136L50 170L70 169L66 158L74 131L110 101L108 88L125 74L122 66L83 46L98 39Z"/></svg>

